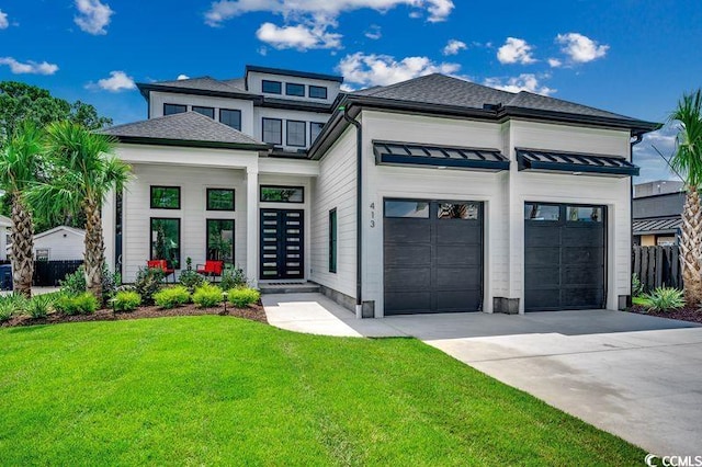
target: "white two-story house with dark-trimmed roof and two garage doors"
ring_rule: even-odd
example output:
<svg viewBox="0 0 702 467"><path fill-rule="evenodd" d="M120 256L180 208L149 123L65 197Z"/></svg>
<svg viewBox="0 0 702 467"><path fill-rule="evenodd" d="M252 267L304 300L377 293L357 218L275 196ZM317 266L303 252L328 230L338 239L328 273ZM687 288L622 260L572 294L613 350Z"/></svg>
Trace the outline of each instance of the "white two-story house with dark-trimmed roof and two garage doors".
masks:
<svg viewBox="0 0 702 467"><path fill-rule="evenodd" d="M657 124L442 75L341 81L139 84L150 119L105 130L136 174L103 213L125 282L219 258L364 317L625 304L631 145Z"/></svg>

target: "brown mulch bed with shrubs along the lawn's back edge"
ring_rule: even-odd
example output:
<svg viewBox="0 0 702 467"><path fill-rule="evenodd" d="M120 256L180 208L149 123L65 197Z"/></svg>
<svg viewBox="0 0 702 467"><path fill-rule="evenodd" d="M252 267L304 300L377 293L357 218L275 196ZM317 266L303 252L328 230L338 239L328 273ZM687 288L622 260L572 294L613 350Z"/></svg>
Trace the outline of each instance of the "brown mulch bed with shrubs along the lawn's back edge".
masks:
<svg viewBox="0 0 702 467"><path fill-rule="evenodd" d="M101 309L93 315L65 316L60 314L50 314L46 318L30 318L29 316L18 316L2 323L3 328L14 326L36 326L36 324L57 324L60 322L82 322L82 321L118 321L123 319L141 319L141 318L163 318L169 316L202 316L202 315L224 315L224 306L219 305L212 308L199 308L195 305L185 305L169 310L161 309L157 306L139 307L134 311L113 312L111 309ZM227 305L227 316L250 319L268 324L265 311L263 307L252 305L249 308L235 308Z"/></svg>

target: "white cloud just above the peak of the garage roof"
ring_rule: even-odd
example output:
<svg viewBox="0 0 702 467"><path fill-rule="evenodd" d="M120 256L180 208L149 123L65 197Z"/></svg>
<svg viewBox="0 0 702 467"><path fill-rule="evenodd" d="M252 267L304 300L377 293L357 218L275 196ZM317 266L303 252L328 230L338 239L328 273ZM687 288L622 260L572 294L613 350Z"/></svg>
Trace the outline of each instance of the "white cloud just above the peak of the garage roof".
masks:
<svg viewBox="0 0 702 467"><path fill-rule="evenodd" d="M349 86L388 86L399 81L431 73L453 75L461 69L457 64L437 64L428 57L406 57L396 60L387 55L347 55L339 61L337 70Z"/></svg>

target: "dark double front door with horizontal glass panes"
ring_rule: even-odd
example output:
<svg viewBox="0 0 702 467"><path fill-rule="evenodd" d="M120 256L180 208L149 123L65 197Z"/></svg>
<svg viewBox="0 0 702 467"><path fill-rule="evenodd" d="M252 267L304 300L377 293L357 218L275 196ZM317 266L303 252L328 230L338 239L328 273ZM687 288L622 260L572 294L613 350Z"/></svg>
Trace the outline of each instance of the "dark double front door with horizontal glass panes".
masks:
<svg viewBox="0 0 702 467"><path fill-rule="evenodd" d="M304 225L302 209L261 209L261 278L303 278Z"/></svg>

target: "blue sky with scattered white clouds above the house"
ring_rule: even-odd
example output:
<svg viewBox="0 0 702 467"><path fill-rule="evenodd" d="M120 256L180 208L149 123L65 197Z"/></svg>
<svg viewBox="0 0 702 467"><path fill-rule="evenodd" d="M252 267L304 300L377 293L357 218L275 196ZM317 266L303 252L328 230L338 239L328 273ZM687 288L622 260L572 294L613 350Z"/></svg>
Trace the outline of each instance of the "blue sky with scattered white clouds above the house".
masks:
<svg viewBox="0 0 702 467"><path fill-rule="evenodd" d="M702 86L702 2L0 0L0 80L143 119L134 82L233 78L246 64L343 73L347 86L440 71L664 122ZM671 179L667 128L641 180Z"/></svg>

